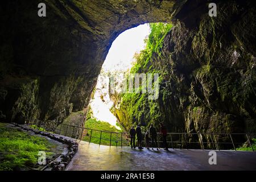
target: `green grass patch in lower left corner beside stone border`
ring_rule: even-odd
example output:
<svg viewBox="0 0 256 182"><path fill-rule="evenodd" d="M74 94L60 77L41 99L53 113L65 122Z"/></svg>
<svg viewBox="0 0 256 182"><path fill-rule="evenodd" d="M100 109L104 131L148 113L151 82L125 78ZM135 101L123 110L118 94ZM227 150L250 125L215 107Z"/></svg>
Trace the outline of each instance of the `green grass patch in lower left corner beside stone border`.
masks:
<svg viewBox="0 0 256 182"><path fill-rule="evenodd" d="M38 152L46 151L47 155L51 155L51 146L46 138L32 136L0 123L0 171L34 168Z"/></svg>

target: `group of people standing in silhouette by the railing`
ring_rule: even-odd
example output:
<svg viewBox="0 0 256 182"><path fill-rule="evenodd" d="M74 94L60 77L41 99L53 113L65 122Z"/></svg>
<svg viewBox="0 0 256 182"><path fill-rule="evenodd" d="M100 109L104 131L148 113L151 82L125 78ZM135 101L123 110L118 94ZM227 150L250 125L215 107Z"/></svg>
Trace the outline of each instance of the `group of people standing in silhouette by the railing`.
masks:
<svg viewBox="0 0 256 182"><path fill-rule="evenodd" d="M163 137L164 150L168 150L167 140L166 140L167 129L166 129L166 126L163 125L163 123L160 123L160 133ZM154 149L154 143L155 143L156 149L159 150L158 142L156 139L157 132L156 132L154 125L151 124L150 129L147 130L144 135L142 134L142 131L141 131L141 124L138 124L136 129L134 129L134 126L132 126L130 129L131 148L136 148L136 146L135 146L136 135L137 135L137 139L138 139L138 148L139 149L143 149L143 147L142 147L143 138L145 138L146 148L149 149L150 148L150 138L151 138L152 149Z"/></svg>

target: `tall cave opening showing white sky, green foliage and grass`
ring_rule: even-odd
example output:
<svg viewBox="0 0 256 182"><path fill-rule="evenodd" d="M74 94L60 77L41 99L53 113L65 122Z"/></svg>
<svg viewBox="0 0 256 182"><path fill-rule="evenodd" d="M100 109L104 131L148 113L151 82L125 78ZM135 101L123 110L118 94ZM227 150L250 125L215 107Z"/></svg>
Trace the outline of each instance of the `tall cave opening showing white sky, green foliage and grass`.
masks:
<svg viewBox="0 0 256 182"><path fill-rule="evenodd" d="M159 92L156 82L159 82L161 72L152 68L155 62L152 57L155 52L160 52L164 37L171 28L172 24L161 22L141 24L124 31L114 40L89 102L85 128L93 131L88 130L89 135L85 140L109 144L101 140L100 131L123 133L122 137L127 137L131 126L141 124L142 132L146 133L154 119L157 119L152 118L158 115L152 104L158 102L158 94L156 98L152 98L151 94ZM152 81L151 87L149 80ZM142 101L143 107L139 106L134 111L130 104L137 100ZM150 115L144 116L143 112ZM126 117L123 118L120 113ZM158 125L155 123L156 128ZM97 136L89 137L93 135ZM117 143L122 140L119 134L113 134L114 137L111 134L104 135L110 140L117 139Z"/></svg>

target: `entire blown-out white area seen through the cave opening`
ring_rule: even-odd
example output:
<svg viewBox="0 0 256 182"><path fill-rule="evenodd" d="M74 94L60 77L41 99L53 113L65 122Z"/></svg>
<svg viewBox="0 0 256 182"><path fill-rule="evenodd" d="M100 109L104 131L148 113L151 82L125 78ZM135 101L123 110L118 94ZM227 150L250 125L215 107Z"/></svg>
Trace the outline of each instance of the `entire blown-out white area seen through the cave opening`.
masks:
<svg viewBox="0 0 256 182"><path fill-rule="evenodd" d="M113 42L108 56L102 66L104 72L127 71L131 68L133 57L136 52L140 52L146 44L144 39L150 34L148 24L143 24L120 34ZM104 74L98 77L94 99L90 101L93 110L93 117L100 121L105 121L117 129L117 118L110 112L113 102L109 98L108 88L105 85ZM102 101L103 98L103 101Z"/></svg>

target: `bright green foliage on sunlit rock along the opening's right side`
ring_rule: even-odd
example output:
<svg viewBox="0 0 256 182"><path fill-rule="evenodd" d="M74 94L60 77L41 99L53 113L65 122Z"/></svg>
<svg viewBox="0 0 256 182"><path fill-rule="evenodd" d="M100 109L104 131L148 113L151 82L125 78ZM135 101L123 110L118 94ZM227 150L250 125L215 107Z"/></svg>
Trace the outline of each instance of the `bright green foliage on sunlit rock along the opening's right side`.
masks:
<svg viewBox="0 0 256 182"><path fill-rule="evenodd" d="M153 66L154 56L161 56L163 39L171 30L172 24L151 23L151 33L146 39L146 48L135 54L135 64L130 73L159 73L159 82L163 81L166 73ZM140 88L141 89L141 88ZM129 129L133 123L142 123L148 127L151 123L163 121L163 114L160 112L157 100L148 100L148 94L125 93L121 95L121 110L118 115L122 124ZM122 118L125 113L126 118ZM124 123L125 122L125 123Z"/></svg>

